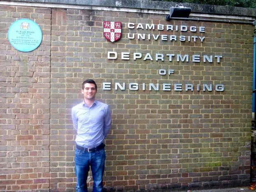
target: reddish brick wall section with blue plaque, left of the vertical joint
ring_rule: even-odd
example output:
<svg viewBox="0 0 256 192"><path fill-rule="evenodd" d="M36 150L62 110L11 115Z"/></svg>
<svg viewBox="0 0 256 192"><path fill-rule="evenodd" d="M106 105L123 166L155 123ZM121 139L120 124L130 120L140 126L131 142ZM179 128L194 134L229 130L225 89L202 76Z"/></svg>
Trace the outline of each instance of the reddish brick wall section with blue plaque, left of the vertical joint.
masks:
<svg viewBox="0 0 256 192"><path fill-rule="evenodd" d="M7 31L31 18L43 31L41 46L15 50ZM0 190L48 189L50 178L51 9L0 7Z"/></svg>

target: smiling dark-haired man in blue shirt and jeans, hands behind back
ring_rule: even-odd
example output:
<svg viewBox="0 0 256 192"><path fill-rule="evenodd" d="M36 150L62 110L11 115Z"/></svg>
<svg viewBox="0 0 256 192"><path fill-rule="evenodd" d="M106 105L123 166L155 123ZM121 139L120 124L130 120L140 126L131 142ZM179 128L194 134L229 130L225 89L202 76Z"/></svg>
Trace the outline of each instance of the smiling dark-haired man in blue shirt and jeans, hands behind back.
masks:
<svg viewBox="0 0 256 192"><path fill-rule="evenodd" d="M87 176L91 167L93 192L103 191L105 168L105 137L111 126L111 112L107 104L96 101L97 85L88 79L82 83L84 101L72 108L76 135L75 174L76 191L87 192Z"/></svg>

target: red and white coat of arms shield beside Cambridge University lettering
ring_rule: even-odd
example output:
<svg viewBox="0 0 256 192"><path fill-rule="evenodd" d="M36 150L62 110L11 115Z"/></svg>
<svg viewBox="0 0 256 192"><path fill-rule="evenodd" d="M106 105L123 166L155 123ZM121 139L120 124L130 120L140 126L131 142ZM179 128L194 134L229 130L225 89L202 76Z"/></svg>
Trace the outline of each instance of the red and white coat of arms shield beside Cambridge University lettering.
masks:
<svg viewBox="0 0 256 192"><path fill-rule="evenodd" d="M110 41L115 42L121 39L122 36L122 23L121 22L103 22L104 37Z"/></svg>

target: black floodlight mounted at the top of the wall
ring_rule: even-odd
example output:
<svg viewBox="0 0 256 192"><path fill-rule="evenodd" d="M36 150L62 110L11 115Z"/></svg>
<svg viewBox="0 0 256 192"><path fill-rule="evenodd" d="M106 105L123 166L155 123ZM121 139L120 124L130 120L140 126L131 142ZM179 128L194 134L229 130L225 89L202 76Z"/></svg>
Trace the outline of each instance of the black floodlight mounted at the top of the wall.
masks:
<svg viewBox="0 0 256 192"><path fill-rule="evenodd" d="M191 12L190 7L183 7L176 5L176 7L170 7L170 14L165 16L165 20L171 20L171 18L188 18Z"/></svg>

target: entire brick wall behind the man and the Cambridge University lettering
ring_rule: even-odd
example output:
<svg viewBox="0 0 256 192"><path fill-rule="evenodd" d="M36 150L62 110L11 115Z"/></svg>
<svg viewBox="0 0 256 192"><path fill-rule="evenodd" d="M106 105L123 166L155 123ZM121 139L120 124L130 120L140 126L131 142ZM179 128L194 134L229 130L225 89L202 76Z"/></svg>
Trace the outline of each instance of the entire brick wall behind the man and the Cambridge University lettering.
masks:
<svg viewBox="0 0 256 192"><path fill-rule="evenodd" d="M41 46L30 53L7 39L17 18L30 18L43 30ZM120 41L103 37L103 21L122 22ZM206 39L130 40L128 33L141 31L128 29L128 22L205 26ZM160 14L0 7L0 190L73 190L71 107L81 101L87 78L96 80L98 99L112 109L104 177L109 189L249 183L252 35L251 25L165 21ZM118 59L107 59L108 51ZM151 62L121 60L121 52L223 58ZM159 69L174 74L159 75ZM103 90L103 82L223 84L225 90Z"/></svg>

